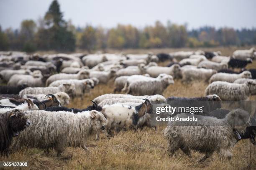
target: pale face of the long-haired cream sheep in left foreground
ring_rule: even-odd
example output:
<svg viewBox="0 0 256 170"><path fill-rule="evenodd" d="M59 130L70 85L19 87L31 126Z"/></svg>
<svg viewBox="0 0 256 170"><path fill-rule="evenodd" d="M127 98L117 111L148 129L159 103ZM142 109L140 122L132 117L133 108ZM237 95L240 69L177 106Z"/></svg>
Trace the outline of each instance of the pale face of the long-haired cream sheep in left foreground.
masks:
<svg viewBox="0 0 256 170"><path fill-rule="evenodd" d="M101 112L97 112L96 110L90 111L90 118L92 119L95 133L98 132L100 129L105 129L107 119Z"/></svg>

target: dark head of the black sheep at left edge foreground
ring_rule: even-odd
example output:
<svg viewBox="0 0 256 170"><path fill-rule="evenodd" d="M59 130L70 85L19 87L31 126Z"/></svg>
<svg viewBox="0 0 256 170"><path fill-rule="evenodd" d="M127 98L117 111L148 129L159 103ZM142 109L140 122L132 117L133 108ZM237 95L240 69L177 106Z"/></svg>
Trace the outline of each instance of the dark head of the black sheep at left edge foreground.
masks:
<svg viewBox="0 0 256 170"><path fill-rule="evenodd" d="M15 109L9 111L8 114L10 127L13 131L14 136L17 136L18 132L30 126L30 121L28 117L26 117L26 112L19 109Z"/></svg>

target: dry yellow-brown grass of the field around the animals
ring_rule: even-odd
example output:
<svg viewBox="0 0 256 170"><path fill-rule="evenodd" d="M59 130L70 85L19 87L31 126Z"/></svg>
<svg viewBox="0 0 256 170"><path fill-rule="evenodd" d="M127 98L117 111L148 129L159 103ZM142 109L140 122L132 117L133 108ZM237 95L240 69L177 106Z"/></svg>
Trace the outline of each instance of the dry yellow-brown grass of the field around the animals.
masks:
<svg viewBox="0 0 256 170"><path fill-rule="evenodd" d="M180 49L179 49L180 50ZM205 50L205 49L203 49ZM220 50L223 55L230 55L235 48L214 48L209 50ZM146 52L146 51L143 51ZM155 51L154 51L155 52ZM166 63L160 63L166 65ZM248 68L256 68L256 61L248 65ZM175 81L165 91L164 96L202 96L204 94L206 83L196 82L184 85L180 81ZM96 86L90 94L86 94L84 99L74 99L69 107L84 108L91 104L90 100L95 97L113 92L113 80L108 84ZM251 100L256 100L255 96ZM253 146L249 140L239 141L233 150L231 160L221 160L215 153L205 162L199 163L198 160L203 155L198 152L192 152L192 157L187 157L182 151L178 151L175 157L169 157L167 150L167 141L163 138L162 130L165 127L159 127L157 132L149 128L142 131L121 131L114 137L108 139L103 134L99 141L94 140L92 136L87 146L90 153L82 148L69 147L56 157L56 152L51 150L46 155L44 150L35 148L24 149L10 154L8 158L0 157L0 161L28 161L29 169L208 169L208 170L244 170L256 169L256 146Z"/></svg>

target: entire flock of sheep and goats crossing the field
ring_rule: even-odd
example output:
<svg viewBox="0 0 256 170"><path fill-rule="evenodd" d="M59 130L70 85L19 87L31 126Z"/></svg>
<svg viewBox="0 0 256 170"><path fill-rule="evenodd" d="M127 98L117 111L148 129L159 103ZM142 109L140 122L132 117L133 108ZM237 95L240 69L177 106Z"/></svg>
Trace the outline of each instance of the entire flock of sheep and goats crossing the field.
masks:
<svg viewBox="0 0 256 170"><path fill-rule="evenodd" d="M249 123L255 122L255 118L243 109L220 109L220 101L243 101L256 95L256 69L245 69L255 56L254 48L234 51L231 57L221 56L220 51L157 55L0 52L0 81L7 84L0 86L0 154L8 155L9 149L14 152L21 147L47 152L54 148L57 156L65 147L88 150L86 140L90 134L99 140L100 132L110 137L112 130L119 132L124 128L136 131L146 126L156 130L152 121L154 104L172 106L183 101L204 101L204 115L190 115L200 121L184 122L182 126L180 122L168 123L164 130L168 151L172 155L181 149L190 155L190 150L197 150L206 154L202 160L218 151L231 158L238 140L249 138L255 144L256 128ZM159 61L170 63L158 66ZM71 98L83 98L97 84L106 84L110 79L115 79L115 94L90 99L92 105L84 109L66 107ZM205 96L166 99L162 96L164 90L177 79L184 84L210 84ZM209 124L212 126L205 128Z"/></svg>

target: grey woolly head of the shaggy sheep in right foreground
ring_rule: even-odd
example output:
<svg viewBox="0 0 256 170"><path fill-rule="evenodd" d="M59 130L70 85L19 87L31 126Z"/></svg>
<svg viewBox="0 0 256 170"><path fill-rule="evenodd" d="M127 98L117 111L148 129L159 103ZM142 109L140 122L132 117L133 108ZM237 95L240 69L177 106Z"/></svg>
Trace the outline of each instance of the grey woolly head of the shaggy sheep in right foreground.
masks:
<svg viewBox="0 0 256 170"><path fill-rule="evenodd" d="M225 119L233 129L243 133L247 126L250 126L250 114L243 109L235 109L230 111Z"/></svg>

